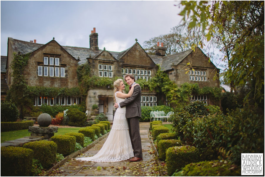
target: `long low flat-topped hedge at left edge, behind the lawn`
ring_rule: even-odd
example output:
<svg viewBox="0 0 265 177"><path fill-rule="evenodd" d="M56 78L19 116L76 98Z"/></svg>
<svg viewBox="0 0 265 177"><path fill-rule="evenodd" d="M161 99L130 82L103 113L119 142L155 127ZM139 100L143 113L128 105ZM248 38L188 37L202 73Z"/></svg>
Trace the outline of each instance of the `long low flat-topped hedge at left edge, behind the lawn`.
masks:
<svg viewBox="0 0 265 177"><path fill-rule="evenodd" d="M1 122L1 132L24 130L34 125L33 120L26 120L22 122Z"/></svg>

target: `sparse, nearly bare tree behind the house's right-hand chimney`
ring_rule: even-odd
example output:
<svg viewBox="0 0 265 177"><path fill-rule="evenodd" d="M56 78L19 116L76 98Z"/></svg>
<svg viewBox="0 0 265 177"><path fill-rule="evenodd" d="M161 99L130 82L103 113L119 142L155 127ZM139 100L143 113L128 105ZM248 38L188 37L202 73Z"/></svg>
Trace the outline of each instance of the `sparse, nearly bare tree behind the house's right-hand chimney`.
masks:
<svg viewBox="0 0 265 177"><path fill-rule="evenodd" d="M145 41L143 48L148 54L155 54L157 42L163 42L166 47L166 55L176 54L185 49L193 48L200 43L202 33L196 30L190 30L187 23L180 24L171 28L169 34L153 37ZM203 48L203 47L201 47Z"/></svg>

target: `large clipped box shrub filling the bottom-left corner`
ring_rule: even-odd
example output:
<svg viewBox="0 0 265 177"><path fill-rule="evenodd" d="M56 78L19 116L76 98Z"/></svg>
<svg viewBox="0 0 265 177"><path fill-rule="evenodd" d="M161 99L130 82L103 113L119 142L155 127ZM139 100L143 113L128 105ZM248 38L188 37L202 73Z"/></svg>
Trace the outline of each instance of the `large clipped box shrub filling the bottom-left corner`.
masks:
<svg viewBox="0 0 265 177"><path fill-rule="evenodd" d="M1 147L1 176L31 176L34 152L22 147Z"/></svg>

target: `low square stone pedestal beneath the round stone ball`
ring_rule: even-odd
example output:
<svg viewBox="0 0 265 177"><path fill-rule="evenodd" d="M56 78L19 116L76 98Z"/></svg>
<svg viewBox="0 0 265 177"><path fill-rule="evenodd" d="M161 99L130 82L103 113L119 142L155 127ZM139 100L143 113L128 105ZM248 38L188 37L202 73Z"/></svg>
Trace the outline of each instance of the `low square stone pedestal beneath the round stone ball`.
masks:
<svg viewBox="0 0 265 177"><path fill-rule="evenodd" d="M29 127L29 132L32 132L31 136L43 136L45 138L51 138L54 133L58 132L58 127Z"/></svg>

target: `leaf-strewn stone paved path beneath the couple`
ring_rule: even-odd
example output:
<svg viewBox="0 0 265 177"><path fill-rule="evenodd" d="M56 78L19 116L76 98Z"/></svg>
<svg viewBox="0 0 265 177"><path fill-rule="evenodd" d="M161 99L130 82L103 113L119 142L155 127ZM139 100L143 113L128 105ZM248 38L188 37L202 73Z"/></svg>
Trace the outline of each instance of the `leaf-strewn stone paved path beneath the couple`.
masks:
<svg viewBox="0 0 265 177"><path fill-rule="evenodd" d="M140 123L143 161L85 162L77 161L73 158L71 161L53 171L49 176L159 176L154 151L148 137L149 125L149 122ZM78 158L95 155L105 143L106 139L107 137L102 139L90 150L78 156Z"/></svg>

